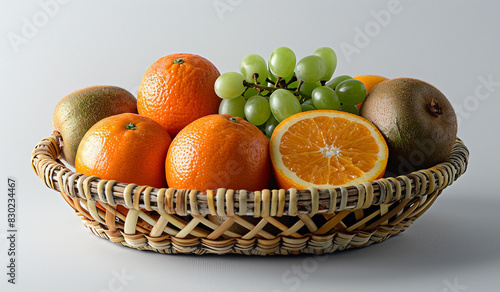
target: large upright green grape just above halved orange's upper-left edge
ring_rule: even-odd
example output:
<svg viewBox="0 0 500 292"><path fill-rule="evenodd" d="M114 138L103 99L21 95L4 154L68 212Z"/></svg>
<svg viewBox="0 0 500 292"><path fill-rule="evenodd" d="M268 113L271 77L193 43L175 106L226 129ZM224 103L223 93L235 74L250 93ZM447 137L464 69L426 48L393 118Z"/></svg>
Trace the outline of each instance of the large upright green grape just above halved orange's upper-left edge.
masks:
<svg viewBox="0 0 500 292"><path fill-rule="evenodd" d="M286 89L277 89L269 97L271 112L278 122L301 112L299 100Z"/></svg>

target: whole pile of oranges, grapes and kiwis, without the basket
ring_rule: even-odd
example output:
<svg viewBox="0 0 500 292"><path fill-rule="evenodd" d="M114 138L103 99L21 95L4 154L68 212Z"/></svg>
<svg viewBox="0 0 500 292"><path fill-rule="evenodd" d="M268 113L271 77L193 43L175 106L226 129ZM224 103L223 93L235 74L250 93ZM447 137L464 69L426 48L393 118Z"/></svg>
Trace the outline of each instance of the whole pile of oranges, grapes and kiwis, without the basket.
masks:
<svg viewBox="0 0 500 292"><path fill-rule="evenodd" d="M328 47L298 61L287 47L268 62L248 54L222 74L204 57L171 54L146 70L137 99L114 86L64 97L53 129L80 173L200 192L349 186L446 159L456 117L439 90L334 76L336 66Z"/></svg>

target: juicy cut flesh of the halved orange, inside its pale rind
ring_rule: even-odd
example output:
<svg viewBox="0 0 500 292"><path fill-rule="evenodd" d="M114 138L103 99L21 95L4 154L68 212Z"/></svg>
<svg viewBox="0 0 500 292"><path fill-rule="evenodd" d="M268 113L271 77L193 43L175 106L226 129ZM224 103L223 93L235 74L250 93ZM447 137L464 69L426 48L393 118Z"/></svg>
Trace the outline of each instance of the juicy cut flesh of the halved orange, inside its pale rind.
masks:
<svg viewBox="0 0 500 292"><path fill-rule="evenodd" d="M380 149L364 125L320 116L290 126L279 151L285 167L299 178L318 185L343 185L370 171Z"/></svg>

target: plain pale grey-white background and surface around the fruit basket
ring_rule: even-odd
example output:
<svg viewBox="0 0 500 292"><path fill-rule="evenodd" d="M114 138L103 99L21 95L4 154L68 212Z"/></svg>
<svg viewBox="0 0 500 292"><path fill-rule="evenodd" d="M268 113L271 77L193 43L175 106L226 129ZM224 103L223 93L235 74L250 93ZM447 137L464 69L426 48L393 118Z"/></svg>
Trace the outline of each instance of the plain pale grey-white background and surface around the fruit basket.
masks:
<svg viewBox="0 0 500 292"><path fill-rule="evenodd" d="M0 2L0 290L500 289L498 2L54 1ZM435 85L459 116L459 136L471 151L467 173L403 234L315 258L121 247L85 230L31 170L30 153L51 134L52 111L66 94L97 84L135 94L146 68L172 53L202 55L225 72L246 54L267 58L278 46L298 58L330 46L336 75ZM18 182L16 285L6 277L8 177Z"/></svg>

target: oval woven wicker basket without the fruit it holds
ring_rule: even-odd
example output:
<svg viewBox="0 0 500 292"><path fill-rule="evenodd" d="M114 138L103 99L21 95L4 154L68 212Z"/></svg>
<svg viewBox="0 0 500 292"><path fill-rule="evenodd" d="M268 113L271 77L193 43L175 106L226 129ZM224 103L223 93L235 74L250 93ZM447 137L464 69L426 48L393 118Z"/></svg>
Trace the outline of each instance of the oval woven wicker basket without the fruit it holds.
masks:
<svg viewBox="0 0 500 292"><path fill-rule="evenodd" d="M36 145L31 164L83 224L111 242L167 254L325 254L405 231L467 168L457 138L429 169L331 189L208 190L125 184L83 175L60 160L59 138Z"/></svg>

